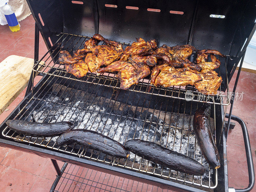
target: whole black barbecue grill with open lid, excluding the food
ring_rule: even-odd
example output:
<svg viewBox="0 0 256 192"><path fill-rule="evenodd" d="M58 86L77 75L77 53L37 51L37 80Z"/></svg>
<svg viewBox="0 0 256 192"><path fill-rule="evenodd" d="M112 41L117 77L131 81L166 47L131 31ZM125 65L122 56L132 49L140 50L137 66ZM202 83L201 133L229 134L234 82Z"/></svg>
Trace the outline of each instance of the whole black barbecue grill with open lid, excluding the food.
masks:
<svg viewBox="0 0 256 192"><path fill-rule="evenodd" d="M76 128L95 130L121 143L132 138L154 141L208 167L203 176L193 176L134 154L124 160L78 145L56 147L56 137L21 135L10 130L5 120L1 124L0 145L51 158L58 173L52 191L58 191L55 187L60 178L65 178L63 173L72 175L65 172L67 163L168 189L252 189L254 169L248 132L243 121L231 113L244 53L256 28L255 1L28 0L28 5L36 21L35 64L24 100L6 120L71 121ZM48 52L40 60L39 31L48 47ZM218 94L202 96L189 85L156 88L150 84L149 78L140 80L125 91L119 88L120 83L113 73L99 76L87 73L82 78L67 73L58 62L60 50L72 52L83 48L84 42L95 33L123 43L124 48L136 37L141 37L145 40L154 38L158 45L191 44L197 49L216 49L227 56L219 58L221 66L216 69L223 79ZM194 52L189 60L195 61L195 58ZM44 63L40 63L42 60ZM231 94L228 82L239 61L236 84ZM37 75L43 78L34 86ZM210 169L202 156L192 126L196 109L205 103L211 106L210 124L220 152L221 167L215 170ZM228 117L227 124L225 116ZM226 139L231 118L242 125L244 134L250 182L244 190L228 188ZM61 171L56 160L67 162ZM63 182L68 181L62 180L61 184Z"/></svg>

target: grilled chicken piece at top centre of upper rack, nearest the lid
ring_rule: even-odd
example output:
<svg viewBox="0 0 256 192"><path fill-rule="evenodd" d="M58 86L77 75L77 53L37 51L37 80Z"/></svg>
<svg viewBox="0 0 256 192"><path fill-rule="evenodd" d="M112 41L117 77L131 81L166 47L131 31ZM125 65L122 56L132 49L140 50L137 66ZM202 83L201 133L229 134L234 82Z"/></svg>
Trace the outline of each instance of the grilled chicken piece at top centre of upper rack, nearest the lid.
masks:
<svg viewBox="0 0 256 192"><path fill-rule="evenodd" d="M143 52L148 52L157 48L156 40L151 39L145 41L142 38L137 39L137 42L133 42L131 46L125 48L120 60L126 61L131 55L139 55Z"/></svg>

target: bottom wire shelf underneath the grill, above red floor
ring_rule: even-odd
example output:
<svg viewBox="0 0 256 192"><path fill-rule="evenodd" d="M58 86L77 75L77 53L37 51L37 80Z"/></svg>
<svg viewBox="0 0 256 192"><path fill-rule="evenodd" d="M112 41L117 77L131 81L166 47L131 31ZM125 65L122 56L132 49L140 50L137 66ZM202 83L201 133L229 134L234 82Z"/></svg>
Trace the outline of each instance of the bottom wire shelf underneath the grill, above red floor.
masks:
<svg viewBox="0 0 256 192"><path fill-rule="evenodd" d="M61 172L61 176L57 176L56 178L56 181L59 182L56 186L53 184L50 192L171 192L171 190L77 165L68 164L65 166L66 168Z"/></svg>

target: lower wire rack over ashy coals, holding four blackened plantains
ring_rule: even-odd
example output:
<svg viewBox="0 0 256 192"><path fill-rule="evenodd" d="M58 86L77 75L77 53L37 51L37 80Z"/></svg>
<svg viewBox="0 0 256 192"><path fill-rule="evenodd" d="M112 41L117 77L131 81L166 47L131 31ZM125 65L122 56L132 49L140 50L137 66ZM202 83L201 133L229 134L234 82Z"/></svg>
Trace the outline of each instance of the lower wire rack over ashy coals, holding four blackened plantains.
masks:
<svg viewBox="0 0 256 192"><path fill-rule="evenodd" d="M209 168L193 132L193 114L198 105L198 102L193 101L45 76L15 119L36 122L71 121L75 124L75 128L103 133L122 144L130 139L154 141L196 159L208 168L208 172L203 176L170 170L134 154L125 160L106 156L78 145L59 148L55 146L57 137L29 137L13 132L7 126L2 134L15 140L166 180L215 188L218 180L217 170ZM210 119L214 135L216 135L215 110L215 105L212 105Z"/></svg>

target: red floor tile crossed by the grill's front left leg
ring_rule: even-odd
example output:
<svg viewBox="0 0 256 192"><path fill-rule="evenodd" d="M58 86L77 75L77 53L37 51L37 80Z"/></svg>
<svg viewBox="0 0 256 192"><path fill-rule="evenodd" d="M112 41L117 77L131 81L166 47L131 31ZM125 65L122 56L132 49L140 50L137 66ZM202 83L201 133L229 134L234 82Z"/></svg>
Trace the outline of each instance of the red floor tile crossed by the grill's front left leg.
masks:
<svg viewBox="0 0 256 192"><path fill-rule="evenodd" d="M63 166L63 162L61 161L57 161L58 162L58 165L61 169L61 167ZM47 179L50 179L50 180L55 180L56 179L56 171L52 165L52 161L51 159L47 159L43 169L42 169L42 172L39 174L40 177L44 177L44 178L47 178Z"/></svg>

